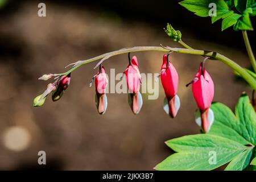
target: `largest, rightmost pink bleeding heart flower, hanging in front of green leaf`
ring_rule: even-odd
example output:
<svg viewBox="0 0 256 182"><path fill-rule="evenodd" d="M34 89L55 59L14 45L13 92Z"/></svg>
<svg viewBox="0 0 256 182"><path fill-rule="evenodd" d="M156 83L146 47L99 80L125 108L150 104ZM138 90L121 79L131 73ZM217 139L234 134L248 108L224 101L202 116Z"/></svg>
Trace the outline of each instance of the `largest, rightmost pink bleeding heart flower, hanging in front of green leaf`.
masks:
<svg viewBox="0 0 256 182"><path fill-rule="evenodd" d="M200 64L199 71L191 81L191 84L193 97L199 107L199 111L196 114L196 122L207 133L214 121L213 111L209 109L214 96L214 84L209 73L204 68L204 62Z"/></svg>

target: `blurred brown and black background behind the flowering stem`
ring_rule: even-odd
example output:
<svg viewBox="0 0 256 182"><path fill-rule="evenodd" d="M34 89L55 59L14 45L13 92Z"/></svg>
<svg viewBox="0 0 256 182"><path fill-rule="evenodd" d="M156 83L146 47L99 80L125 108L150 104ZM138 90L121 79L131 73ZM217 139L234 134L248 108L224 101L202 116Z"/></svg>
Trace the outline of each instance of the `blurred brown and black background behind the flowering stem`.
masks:
<svg viewBox="0 0 256 182"><path fill-rule="evenodd" d="M191 81L202 57L172 55L179 72L181 108L175 119L163 111L161 85L158 100L144 102L133 115L126 94L108 94L108 110L98 115L94 88L89 81L96 63L72 73L63 98L32 107L35 96L48 82L45 73L64 72L65 65L123 47L180 47L164 33L169 22L183 34L183 41L198 49L225 53L248 67L241 32L221 32L221 21L193 15L178 1L43 1L46 17L38 16L42 1L0 0L0 169L151 170L171 154L164 141L199 133L193 113L196 104ZM255 18L252 19L255 25ZM255 32L249 32L255 50ZM142 73L158 73L161 52L136 53ZM105 63L107 73L122 73L127 55ZM214 101L232 109L241 92L251 90L238 82L232 69L208 61L215 83ZM46 151L47 165L38 165L38 151Z"/></svg>

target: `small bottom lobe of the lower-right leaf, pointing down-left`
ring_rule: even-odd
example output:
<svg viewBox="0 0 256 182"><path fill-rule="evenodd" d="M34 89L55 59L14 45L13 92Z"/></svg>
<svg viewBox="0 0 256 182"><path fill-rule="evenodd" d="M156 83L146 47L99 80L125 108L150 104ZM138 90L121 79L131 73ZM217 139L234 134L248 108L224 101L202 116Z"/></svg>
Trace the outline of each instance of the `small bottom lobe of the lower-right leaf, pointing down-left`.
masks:
<svg viewBox="0 0 256 182"><path fill-rule="evenodd" d="M225 168L225 171L242 171L250 163L252 153L253 147L250 147L246 151L243 151L228 164L228 166Z"/></svg>

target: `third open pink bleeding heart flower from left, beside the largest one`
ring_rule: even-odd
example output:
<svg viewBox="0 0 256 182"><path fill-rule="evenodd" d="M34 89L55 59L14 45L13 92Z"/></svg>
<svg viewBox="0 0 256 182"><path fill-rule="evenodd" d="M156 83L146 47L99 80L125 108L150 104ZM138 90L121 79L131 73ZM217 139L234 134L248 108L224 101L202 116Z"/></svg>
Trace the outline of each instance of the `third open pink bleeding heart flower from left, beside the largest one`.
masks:
<svg viewBox="0 0 256 182"><path fill-rule="evenodd" d="M174 65L168 61L168 56L169 55L163 56L160 77L164 93L166 93L166 98L164 98L164 111L166 111L170 117L174 118L180 108L180 98L176 95L179 85L179 76L177 75Z"/></svg>

